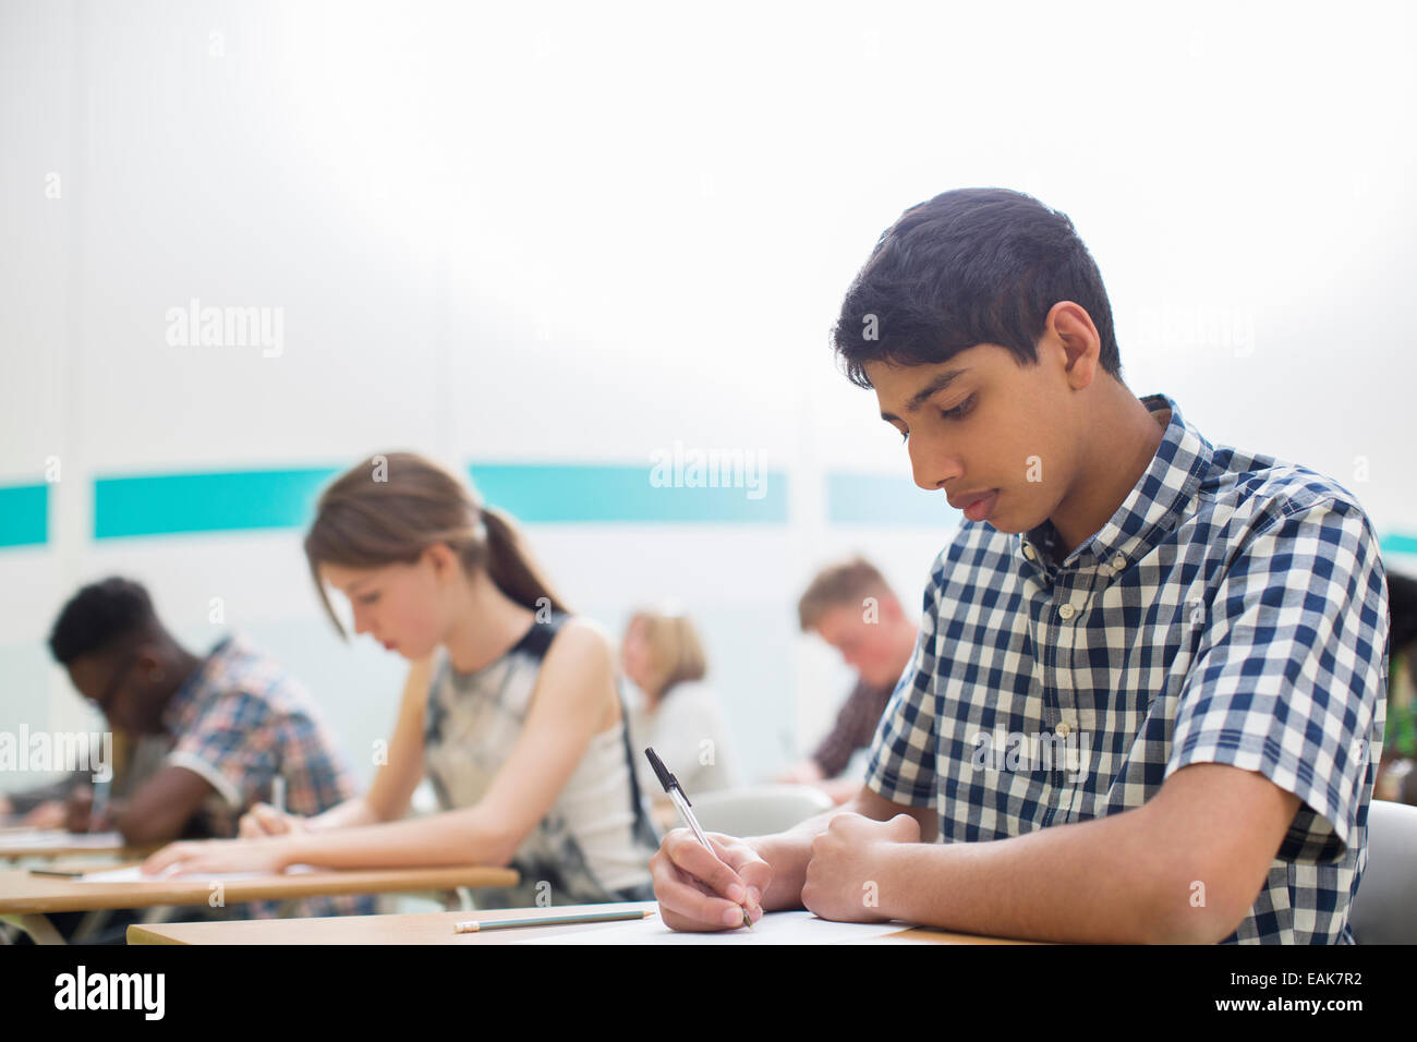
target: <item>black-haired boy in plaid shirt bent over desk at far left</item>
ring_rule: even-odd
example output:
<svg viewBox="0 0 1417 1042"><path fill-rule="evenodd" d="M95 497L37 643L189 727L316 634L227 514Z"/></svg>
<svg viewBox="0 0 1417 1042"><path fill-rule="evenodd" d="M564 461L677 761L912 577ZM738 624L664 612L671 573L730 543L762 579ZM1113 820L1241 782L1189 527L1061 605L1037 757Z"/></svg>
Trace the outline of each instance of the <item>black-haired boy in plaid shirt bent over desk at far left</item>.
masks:
<svg viewBox="0 0 1417 1042"><path fill-rule="evenodd" d="M166 744L162 764L146 766L142 783L115 794L94 822L133 846L234 836L241 815L269 798L276 778L296 814L319 814L354 792L344 756L293 676L234 635L193 655L137 583L115 577L79 590L60 612L50 649L115 730ZM89 824L85 800L68 825ZM224 917L268 917L278 907L252 902L230 906ZM296 913L373 910L367 897L322 897L300 902Z"/></svg>

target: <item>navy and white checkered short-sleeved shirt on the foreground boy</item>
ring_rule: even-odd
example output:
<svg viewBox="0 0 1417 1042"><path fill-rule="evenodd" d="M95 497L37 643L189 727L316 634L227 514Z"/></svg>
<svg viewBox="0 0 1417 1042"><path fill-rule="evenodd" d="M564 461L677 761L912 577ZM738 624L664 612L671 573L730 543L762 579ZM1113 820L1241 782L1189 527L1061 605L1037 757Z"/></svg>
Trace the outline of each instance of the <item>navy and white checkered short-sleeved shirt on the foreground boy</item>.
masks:
<svg viewBox="0 0 1417 1042"><path fill-rule="evenodd" d="M1050 522L966 522L941 551L866 784L973 842L1139 807L1187 764L1258 771L1304 805L1226 940L1352 943L1387 699L1377 539L1329 478L1142 401L1165 438L1064 560Z"/></svg>

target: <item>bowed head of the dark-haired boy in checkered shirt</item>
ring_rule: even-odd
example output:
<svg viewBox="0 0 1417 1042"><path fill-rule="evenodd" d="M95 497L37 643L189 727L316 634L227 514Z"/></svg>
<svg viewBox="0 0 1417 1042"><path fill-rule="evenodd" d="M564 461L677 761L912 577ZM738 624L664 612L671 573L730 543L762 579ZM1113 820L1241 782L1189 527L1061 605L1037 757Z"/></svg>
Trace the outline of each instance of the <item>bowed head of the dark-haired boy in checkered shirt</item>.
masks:
<svg viewBox="0 0 1417 1042"><path fill-rule="evenodd" d="M1066 214L1006 189L947 191L876 244L833 330L915 483L1003 532L1047 519L1081 462L1090 388L1121 381L1112 310ZM976 516L971 516L976 515Z"/></svg>

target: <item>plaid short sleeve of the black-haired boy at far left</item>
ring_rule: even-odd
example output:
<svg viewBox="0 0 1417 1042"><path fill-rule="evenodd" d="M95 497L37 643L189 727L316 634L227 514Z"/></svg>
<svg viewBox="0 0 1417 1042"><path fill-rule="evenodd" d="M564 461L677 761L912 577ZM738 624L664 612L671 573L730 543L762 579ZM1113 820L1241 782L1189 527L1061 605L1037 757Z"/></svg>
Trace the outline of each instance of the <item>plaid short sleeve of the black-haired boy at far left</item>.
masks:
<svg viewBox="0 0 1417 1042"><path fill-rule="evenodd" d="M232 811L269 790L278 768L275 712L249 692L232 690L177 739L167 763L200 774Z"/></svg>

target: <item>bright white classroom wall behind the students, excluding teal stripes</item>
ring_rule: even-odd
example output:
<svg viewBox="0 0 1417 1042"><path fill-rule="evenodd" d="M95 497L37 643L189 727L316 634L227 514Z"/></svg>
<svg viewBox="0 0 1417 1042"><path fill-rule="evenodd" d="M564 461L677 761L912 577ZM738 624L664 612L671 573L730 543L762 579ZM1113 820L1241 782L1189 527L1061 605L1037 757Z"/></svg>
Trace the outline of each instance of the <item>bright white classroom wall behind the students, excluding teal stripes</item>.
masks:
<svg viewBox="0 0 1417 1042"><path fill-rule="evenodd" d="M914 605L949 534L944 505L826 523L828 471L910 482L826 335L881 228L968 184L1071 214L1138 394L1417 530L1407 6L506 7L0 7L0 485L62 462L48 544L0 549L0 726L85 720L43 639L113 571L193 644L224 597L363 771L391 720L400 663L339 645L298 532L95 543L96 475L679 439L786 471L789 523L531 540L615 629L686 604L741 760L774 770L847 683L796 634L813 568L862 549ZM170 347L190 298L282 308L282 354Z"/></svg>

